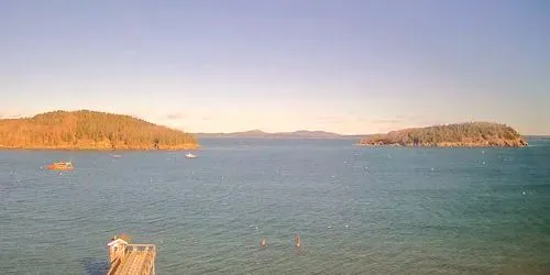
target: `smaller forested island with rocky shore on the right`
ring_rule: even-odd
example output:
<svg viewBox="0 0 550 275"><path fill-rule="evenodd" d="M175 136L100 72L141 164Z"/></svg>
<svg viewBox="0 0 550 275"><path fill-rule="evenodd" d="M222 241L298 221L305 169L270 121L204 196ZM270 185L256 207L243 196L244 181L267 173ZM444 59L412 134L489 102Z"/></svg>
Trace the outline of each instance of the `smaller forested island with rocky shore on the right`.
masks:
<svg viewBox="0 0 550 275"><path fill-rule="evenodd" d="M414 128L363 138L359 145L435 147L521 147L527 142L513 128L493 122L469 122Z"/></svg>

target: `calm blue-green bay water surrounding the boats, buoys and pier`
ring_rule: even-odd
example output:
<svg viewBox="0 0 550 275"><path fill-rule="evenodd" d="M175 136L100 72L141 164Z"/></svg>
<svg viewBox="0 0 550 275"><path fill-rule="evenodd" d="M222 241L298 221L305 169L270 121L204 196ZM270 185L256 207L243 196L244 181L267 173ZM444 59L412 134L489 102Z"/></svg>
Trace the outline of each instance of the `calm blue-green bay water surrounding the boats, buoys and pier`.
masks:
<svg viewBox="0 0 550 275"><path fill-rule="evenodd" d="M201 142L195 160L0 151L0 274L102 274L120 232L157 244L158 274L550 274L548 141ZM41 168L57 160L76 169Z"/></svg>

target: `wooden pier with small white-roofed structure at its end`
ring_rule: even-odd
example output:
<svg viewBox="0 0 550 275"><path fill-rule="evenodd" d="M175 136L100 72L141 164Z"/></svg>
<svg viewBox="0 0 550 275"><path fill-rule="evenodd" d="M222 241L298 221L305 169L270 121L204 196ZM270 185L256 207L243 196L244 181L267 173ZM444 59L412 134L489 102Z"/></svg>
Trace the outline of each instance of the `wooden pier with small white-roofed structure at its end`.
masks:
<svg viewBox="0 0 550 275"><path fill-rule="evenodd" d="M114 237L109 248L111 267L108 275L155 275L156 245L130 244L130 238Z"/></svg>

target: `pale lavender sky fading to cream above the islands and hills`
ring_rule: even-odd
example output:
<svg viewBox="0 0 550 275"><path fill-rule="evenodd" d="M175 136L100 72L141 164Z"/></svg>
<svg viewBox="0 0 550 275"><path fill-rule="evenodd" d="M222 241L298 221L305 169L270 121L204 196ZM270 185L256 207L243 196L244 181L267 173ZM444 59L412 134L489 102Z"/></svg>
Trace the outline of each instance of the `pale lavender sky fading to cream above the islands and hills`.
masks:
<svg viewBox="0 0 550 275"><path fill-rule="evenodd" d="M0 1L0 116L188 132L550 134L546 0Z"/></svg>

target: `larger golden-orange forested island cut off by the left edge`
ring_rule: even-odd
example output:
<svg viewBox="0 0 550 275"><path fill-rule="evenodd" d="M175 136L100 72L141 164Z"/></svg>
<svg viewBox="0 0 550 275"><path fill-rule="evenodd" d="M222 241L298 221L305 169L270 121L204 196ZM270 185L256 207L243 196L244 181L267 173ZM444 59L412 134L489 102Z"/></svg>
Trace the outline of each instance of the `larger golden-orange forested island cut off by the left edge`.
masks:
<svg viewBox="0 0 550 275"><path fill-rule="evenodd" d="M0 120L0 148L191 150L197 139L130 116L54 111Z"/></svg>

